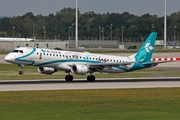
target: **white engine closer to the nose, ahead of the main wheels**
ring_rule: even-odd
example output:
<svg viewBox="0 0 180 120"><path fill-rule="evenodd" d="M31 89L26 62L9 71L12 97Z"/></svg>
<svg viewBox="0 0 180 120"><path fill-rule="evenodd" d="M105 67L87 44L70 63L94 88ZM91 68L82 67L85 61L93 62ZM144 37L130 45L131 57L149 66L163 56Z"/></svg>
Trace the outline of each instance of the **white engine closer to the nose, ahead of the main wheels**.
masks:
<svg viewBox="0 0 180 120"><path fill-rule="evenodd" d="M38 67L38 72L40 72L41 74L53 74L56 71L57 70L52 67Z"/></svg>

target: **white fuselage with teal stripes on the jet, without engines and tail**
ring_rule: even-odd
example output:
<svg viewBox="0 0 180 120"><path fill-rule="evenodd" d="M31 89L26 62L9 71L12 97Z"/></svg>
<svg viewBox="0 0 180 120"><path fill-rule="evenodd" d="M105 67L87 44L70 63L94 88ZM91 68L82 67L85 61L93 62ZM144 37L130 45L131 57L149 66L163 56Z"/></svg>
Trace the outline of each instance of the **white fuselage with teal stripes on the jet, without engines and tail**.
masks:
<svg viewBox="0 0 180 120"><path fill-rule="evenodd" d="M15 64L53 67L57 70L70 71L71 65L89 65L99 63L123 63L134 61L131 57L92 54L88 52L72 52L64 50L50 50L40 48L17 48L9 53L5 60ZM127 72L133 64L122 66L106 66L101 72ZM93 69L93 68L92 68ZM97 68L96 68L97 69Z"/></svg>

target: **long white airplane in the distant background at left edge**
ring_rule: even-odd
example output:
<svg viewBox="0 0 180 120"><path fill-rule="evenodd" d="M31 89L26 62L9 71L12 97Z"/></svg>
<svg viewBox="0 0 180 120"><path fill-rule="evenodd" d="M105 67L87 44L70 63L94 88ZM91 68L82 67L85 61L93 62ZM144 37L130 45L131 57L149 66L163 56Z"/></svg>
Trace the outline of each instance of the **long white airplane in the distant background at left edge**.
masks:
<svg viewBox="0 0 180 120"><path fill-rule="evenodd" d="M32 42L34 39L32 38L7 38L0 37L0 42Z"/></svg>

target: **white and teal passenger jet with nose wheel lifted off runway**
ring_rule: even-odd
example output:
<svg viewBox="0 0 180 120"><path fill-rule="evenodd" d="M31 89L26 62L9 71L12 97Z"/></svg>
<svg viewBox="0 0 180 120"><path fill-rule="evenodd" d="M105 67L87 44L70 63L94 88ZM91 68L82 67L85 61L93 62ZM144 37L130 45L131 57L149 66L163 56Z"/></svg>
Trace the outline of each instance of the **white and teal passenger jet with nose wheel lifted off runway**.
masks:
<svg viewBox="0 0 180 120"><path fill-rule="evenodd" d="M138 52L130 56L20 47L6 55L4 60L18 64L20 66L19 74L23 74L25 65L33 65L38 66L38 72L42 74L53 74L58 70L63 70L67 73L66 81L73 81L73 76L70 73L78 75L89 73L87 81L95 81L94 72L131 72L171 61L152 59L156 37L157 33L152 32Z"/></svg>

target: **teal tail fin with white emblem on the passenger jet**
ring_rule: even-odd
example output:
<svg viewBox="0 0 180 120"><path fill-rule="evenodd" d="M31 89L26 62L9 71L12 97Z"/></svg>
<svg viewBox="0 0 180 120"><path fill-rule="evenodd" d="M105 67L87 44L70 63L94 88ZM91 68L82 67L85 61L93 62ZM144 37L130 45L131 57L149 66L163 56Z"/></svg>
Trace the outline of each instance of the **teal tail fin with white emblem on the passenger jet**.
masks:
<svg viewBox="0 0 180 120"><path fill-rule="evenodd" d="M154 45L156 41L157 33L152 32L149 37L146 39L144 44L141 46L141 48L138 50L136 55L134 56L134 59L136 61L141 62L150 62L152 58L152 54L154 52Z"/></svg>

